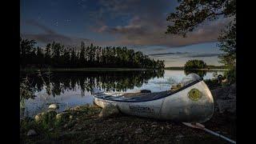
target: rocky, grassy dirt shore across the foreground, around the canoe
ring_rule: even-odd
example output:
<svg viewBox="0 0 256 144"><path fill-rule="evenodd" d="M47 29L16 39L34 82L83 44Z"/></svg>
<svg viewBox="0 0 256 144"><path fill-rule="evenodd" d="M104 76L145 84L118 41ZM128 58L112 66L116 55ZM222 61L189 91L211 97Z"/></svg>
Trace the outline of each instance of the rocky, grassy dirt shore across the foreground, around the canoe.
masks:
<svg viewBox="0 0 256 144"><path fill-rule="evenodd" d="M233 87L235 90L235 87ZM228 86L214 89L216 101L213 117L203 125L218 134L236 141L236 114L222 111L217 100L224 100L225 92L232 90ZM231 93L230 93L231 94ZM223 99L223 98L224 99ZM229 96L230 97L230 96ZM225 106L223 107L225 108ZM24 119L20 132L21 142L73 142L73 143L227 143L203 130L192 129L181 122L161 121L154 118L140 118L126 114L115 114L100 118L102 109L98 106L76 106L62 113L48 112L46 120L52 117L58 125L47 126L33 123L26 126ZM42 120L42 119L41 119ZM40 121L40 119L39 119ZM45 127L42 129L42 127ZM28 130L37 135L27 136Z"/></svg>

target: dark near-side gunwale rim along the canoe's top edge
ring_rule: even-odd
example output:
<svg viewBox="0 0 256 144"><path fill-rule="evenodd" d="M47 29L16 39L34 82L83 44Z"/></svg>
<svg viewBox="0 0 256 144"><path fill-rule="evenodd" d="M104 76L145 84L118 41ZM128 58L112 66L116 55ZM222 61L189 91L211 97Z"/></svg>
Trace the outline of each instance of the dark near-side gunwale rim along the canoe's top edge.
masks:
<svg viewBox="0 0 256 144"><path fill-rule="evenodd" d="M102 99L102 100L106 100L106 101L114 101L114 102L149 102L149 101L154 101L154 100L158 100L158 99L161 99L161 98L166 98L166 97L169 97L170 95L173 95L173 94L176 94L178 93L179 91L182 91L182 90L185 90L186 88L190 87L190 86L193 86L195 85L196 83L198 82L201 82L203 80L203 78L198 78L197 80L195 80L194 82L191 82L189 84L187 84L186 86L182 86L180 89L178 90L175 90L175 91L172 91L170 92L169 94L164 94L162 96L159 96L157 98L151 98L151 99L138 99L137 101L130 101L130 100L127 100L127 99L108 99L108 98L102 98L100 96L97 96L97 95L94 95L95 98L99 98L99 99Z"/></svg>

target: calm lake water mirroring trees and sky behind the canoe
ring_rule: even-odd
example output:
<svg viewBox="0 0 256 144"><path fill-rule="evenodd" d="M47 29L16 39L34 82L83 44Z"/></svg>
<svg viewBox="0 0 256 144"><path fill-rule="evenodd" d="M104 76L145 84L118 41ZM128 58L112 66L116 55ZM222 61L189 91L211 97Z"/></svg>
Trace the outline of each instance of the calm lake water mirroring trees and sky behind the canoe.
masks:
<svg viewBox="0 0 256 144"><path fill-rule="evenodd" d="M214 73L223 71L196 71L204 79L214 78ZM58 71L21 72L20 82L27 79L33 98L22 98L21 118L34 116L48 109L51 103L58 103L58 112L68 107L93 104L91 94L94 87L110 92L136 92L169 90L174 83L190 74L184 70L125 70L125 71Z"/></svg>

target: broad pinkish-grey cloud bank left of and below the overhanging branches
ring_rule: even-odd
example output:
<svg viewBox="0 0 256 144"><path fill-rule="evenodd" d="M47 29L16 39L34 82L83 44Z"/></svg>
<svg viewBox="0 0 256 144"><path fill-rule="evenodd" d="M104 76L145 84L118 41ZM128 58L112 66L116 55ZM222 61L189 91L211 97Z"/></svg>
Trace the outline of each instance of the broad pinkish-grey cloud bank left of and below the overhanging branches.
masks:
<svg viewBox="0 0 256 144"><path fill-rule="evenodd" d="M199 26L193 32L187 34L186 38L179 35L164 34L165 26L146 26L150 22L145 22L147 24L143 24L143 22L134 24L133 20L127 26L104 26L101 32L120 35L119 39L109 42L109 44L179 47L198 43L218 42L218 35L228 22L230 22L230 19L226 18L205 26Z"/></svg>

